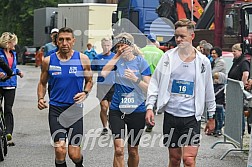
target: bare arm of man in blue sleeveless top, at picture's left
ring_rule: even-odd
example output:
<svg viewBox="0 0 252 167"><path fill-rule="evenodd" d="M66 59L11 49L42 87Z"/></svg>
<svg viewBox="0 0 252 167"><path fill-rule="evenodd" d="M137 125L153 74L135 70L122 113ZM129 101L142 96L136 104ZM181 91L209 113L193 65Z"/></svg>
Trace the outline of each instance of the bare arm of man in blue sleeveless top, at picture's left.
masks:
<svg viewBox="0 0 252 167"><path fill-rule="evenodd" d="M44 100L45 94L46 94L46 85L49 78L48 75L48 67L50 62L50 56L46 57L42 61L42 70L40 74L40 80L38 83L37 88L37 95L38 95L38 108L40 110L47 108L46 101Z"/></svg>

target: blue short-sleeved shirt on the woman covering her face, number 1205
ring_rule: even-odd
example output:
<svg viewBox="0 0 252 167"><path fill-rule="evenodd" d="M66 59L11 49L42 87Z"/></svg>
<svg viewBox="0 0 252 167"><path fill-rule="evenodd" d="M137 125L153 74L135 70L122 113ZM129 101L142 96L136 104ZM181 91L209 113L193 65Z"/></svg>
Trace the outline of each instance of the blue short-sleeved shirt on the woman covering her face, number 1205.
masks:
<svg viewBox="0 0 252 167"><path fill-rule="evenodd" d="M134 71L142 80L143 76L151 76L151 70L141 56L127 61L120 58L115 65L115 93L110 105L111 110L120 110L123 113L145 112L145 94L139 85L124 77L125 69Z"/></svg>

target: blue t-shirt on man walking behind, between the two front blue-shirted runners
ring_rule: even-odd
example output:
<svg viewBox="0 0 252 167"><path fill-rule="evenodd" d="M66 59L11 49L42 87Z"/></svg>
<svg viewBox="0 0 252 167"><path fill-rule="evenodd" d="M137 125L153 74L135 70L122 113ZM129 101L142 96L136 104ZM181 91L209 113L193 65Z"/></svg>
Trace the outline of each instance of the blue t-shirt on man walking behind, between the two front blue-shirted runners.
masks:
<svg viewBox="0 0 252 167"><path fill-rule="evenodd" d="M102 68L115 56L111 52L110 55L98 54L92 61L91 68L93 71L98 71L97 84L113 85L115 82L115 72L111 71L106 78L101 76Z"/></svg>

